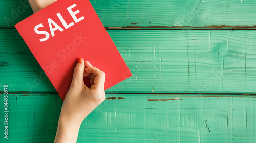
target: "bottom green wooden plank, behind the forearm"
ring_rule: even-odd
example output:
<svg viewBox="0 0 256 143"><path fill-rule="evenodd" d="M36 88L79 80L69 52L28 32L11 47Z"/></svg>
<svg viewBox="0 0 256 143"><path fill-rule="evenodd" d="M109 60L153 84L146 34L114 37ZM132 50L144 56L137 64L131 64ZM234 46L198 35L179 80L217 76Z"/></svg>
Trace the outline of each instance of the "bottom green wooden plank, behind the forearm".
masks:
<svg viewBox="0 0 256 143"><path fill-rule="evenodd" d="M106 96L82 122L77 142L256 141L255 96ZM8 98L9 138L1 137L0 142L53 142L62 105L58 94ZM3 113L4 107L0 110ZM3 133L4 124L0 127Z"/></svg>

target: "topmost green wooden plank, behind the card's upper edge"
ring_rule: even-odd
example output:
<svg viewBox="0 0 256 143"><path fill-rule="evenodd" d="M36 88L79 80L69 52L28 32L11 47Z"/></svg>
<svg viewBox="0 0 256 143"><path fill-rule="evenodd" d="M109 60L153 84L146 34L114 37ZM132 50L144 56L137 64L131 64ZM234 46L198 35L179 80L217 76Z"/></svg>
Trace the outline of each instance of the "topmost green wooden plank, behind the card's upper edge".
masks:
<svg viewBox="0 0 256 143"><path fill-rule="evenodd" d="M105 27L255 28L253 0L91 0ZM0 27L13 27L33 12L26 0L0 1Z"/></svg>

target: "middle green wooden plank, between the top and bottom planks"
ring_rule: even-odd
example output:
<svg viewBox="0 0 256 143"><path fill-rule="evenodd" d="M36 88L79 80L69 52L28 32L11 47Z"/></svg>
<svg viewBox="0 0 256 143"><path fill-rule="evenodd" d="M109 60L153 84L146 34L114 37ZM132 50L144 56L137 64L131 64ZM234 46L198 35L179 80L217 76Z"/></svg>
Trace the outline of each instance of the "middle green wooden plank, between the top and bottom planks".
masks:
<svg viewBox="0 0 256 143"><path fill-rule="evenodd" d="M133 74L108 93L255 93L255 31L108 32ZM0 88L56 92L15 29L0 37Z"/></svg>

